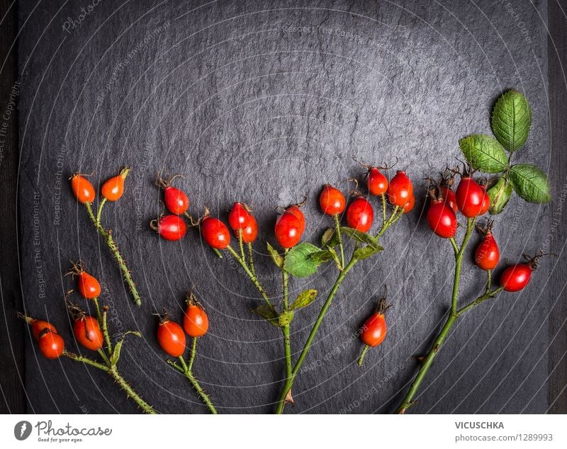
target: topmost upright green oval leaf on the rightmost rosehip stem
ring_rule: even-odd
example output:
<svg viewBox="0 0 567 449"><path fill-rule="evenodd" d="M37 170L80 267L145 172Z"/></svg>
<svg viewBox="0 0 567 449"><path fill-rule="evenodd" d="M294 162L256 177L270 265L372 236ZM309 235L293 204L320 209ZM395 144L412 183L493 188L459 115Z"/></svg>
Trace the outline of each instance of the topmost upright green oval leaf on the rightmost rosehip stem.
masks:
<svg viewBox="0 0 567 449"><path fill-rule="evenodd" d="M527 98L518 91L503 93L494 106L492 132L510 152L524 146L532 125L532 111Z"/></svg>

